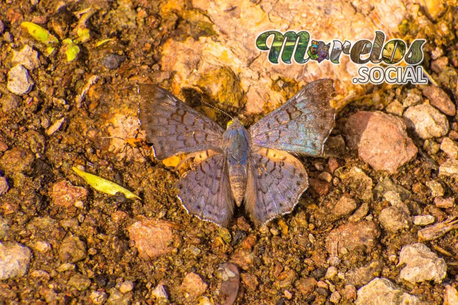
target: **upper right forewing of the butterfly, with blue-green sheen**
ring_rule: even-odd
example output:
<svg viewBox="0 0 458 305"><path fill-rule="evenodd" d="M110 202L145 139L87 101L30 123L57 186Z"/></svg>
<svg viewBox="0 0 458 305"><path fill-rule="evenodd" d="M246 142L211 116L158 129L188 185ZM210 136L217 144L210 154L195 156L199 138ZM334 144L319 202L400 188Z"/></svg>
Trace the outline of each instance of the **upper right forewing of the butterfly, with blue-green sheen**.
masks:
<svg viewBox="0 0 458 305"><path fill-rule="evenodd" d="M335 125L329 104L333 80L312 81L288 102L249 129L253 145L306 155L322 155L324 142Z"/></svg>

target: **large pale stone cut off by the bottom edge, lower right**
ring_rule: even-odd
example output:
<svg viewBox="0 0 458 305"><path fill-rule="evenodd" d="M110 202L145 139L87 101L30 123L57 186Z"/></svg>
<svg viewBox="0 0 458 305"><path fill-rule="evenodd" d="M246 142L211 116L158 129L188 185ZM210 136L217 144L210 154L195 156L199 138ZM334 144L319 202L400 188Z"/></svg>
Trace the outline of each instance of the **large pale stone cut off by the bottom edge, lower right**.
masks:
<svg viewBox="0 0 458 305"><path fill-rule="evenodd" d="M358 289L356 305L420 305L420 300L393 284L387 278L374 278L369 284Z"/></svg>

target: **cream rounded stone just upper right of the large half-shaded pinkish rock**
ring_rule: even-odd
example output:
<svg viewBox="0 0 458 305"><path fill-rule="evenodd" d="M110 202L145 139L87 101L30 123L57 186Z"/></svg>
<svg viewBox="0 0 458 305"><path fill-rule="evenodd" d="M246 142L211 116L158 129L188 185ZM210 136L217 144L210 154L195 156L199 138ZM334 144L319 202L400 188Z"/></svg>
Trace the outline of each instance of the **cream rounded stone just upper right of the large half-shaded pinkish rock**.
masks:
<svg viewBox="0 0 458 305"><path fill-rule="evenodd" d="M407 126L414 128L422 139L439 138L448 132L447 117L428 104L407 108L403 118L406 118Z"/></svg>

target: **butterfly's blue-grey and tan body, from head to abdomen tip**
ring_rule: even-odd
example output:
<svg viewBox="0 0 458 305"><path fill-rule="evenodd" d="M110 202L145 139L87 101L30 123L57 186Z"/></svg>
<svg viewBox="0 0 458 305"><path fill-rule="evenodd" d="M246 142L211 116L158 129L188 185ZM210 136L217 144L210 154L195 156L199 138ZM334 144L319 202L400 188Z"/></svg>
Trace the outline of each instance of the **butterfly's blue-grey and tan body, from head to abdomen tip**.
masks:
<svg viewBox="0 0 458 305"><path fill-rule="evenodd" d="M236 118L228 124L223 134L223 149L227 156L229 182L238 206L245 196L250 154L250 135Z"/></svg>

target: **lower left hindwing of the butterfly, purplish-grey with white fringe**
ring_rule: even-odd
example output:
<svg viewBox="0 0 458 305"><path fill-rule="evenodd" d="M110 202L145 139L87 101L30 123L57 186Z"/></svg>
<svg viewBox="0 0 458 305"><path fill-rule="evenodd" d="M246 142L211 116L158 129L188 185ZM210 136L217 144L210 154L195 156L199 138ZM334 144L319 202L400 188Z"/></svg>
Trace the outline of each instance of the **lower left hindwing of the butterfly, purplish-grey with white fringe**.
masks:
<svg viewBox="0 0 458 305"><path fill-rule="evenodd" d="M178 198L190 214L217 225L227 225L234 210L226 157L213 155L188 171L175 184Z"/></svg>

